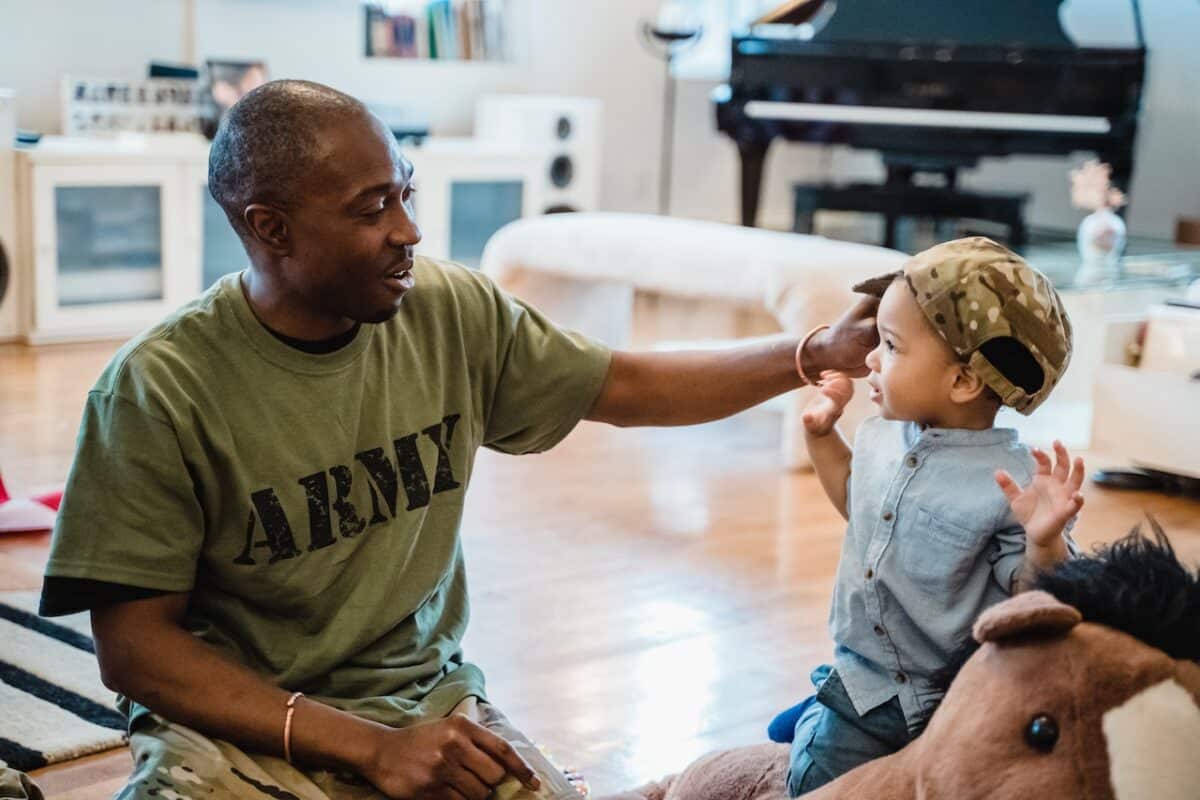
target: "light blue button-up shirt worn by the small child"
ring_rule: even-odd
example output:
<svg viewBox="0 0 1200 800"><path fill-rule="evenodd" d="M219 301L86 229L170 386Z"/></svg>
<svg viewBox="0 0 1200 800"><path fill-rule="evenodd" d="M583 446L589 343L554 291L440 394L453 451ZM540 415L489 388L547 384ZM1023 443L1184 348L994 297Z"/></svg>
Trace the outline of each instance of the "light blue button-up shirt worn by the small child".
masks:
<svg viewBox="0 0 1200 800"><path fill-rule="evenodd" d="M1009 596L1025 530L996 486L997 469L1021 486L1032 477L1033 457L1012 428L922 429L872 417L858 429L829 628L859 714L899 697L914 729L941 699L932 675L979 613Z"/></svg>

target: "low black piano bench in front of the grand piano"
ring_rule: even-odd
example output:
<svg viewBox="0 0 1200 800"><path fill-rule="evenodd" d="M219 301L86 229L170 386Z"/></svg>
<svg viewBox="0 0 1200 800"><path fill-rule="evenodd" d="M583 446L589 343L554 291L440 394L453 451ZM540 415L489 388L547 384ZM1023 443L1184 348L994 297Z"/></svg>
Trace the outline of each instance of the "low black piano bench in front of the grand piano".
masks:
<svg viewBox="0 0 1200 800"><path fill-rule="evenodd" d="M863 211L883 215L884 245L898 247L896 222L901 217L928 219L985 219L1008 228L1007 243L1020 247L1026 240L1026 193L965 192L954 188L889 184L793 184L796 233L812 233L817 211Z"/></svg>

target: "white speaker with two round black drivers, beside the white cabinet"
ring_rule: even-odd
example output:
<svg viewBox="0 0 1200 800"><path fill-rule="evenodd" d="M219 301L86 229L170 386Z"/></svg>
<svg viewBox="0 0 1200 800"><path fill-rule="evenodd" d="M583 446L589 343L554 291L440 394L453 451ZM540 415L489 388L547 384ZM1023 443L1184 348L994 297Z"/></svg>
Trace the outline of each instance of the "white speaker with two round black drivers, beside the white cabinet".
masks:
<svg viewBox="0 0 1200 800"><path fill-rule="evenodd" d="M590 97L486 95L475 106L475 137L546 148L542 213L600 206L604 107Z"/></svg>

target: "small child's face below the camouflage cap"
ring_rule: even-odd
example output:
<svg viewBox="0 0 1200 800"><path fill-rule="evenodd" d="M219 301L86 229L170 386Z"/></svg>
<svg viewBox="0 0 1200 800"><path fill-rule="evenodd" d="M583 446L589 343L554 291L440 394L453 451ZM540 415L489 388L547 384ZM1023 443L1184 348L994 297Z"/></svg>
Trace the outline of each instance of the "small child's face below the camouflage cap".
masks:
<svg viewBox="0 0 1200 800"><path fill-rule="evenodd" d="M886 420L941 426L954 413L950 390L962 365L922 313L902 278L893 281L876 315L880 344L866 356L871 402Z"/></svg>

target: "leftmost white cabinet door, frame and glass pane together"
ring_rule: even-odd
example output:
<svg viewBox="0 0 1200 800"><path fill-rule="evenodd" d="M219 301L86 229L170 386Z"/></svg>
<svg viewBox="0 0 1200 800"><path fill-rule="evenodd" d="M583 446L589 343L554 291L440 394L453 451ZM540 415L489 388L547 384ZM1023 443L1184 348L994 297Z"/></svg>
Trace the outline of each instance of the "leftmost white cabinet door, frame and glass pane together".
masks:
<svg viewBox="0 0 1200 800"><path fill-rule="evenodd" d="M130 336L192 297L176 164L35 166L31 338Z"/></svg>

